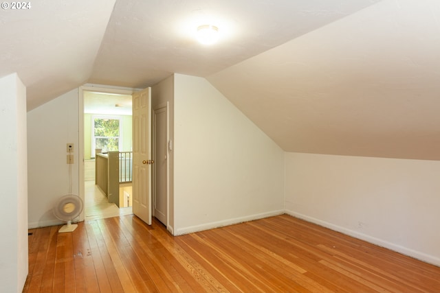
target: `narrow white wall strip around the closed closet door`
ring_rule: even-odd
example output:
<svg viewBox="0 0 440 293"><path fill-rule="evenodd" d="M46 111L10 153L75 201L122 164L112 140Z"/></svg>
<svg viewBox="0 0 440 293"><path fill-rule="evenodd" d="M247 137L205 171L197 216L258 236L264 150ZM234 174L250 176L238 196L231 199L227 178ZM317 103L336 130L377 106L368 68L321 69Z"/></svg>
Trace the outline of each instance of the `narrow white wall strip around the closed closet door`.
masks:
<svg viewBox="0 0 440 293"><path fill-rule="evenodd" d="M174 144L174 75L162 80L151 88L151 107L153 110L168 102L168 139ZM174 233L174 152L168 150L168 224Z"/></svg>

